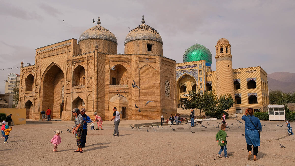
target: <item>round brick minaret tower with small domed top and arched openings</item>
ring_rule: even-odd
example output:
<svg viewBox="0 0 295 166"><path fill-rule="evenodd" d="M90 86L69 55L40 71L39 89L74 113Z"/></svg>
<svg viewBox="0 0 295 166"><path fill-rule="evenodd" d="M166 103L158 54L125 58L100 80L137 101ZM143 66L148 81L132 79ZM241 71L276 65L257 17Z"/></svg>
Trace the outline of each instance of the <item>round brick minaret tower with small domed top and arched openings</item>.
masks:
<svg viewBox="0 0 295 166"><path fill-rule="evenodd" d="M235 99L230 43L227 39L221 38L217 41L215 47L217 95L220 97L229 93L232 95L232 98ZM230 113L235 113L235 110L234 104L230 109Z"/></svg>

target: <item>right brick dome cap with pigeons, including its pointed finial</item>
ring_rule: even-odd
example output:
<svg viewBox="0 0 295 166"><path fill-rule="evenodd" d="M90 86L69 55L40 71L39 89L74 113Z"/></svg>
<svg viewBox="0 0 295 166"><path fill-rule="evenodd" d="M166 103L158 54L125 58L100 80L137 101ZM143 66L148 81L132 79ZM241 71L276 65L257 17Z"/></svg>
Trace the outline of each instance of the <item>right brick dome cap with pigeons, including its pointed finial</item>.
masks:
<svg viewBox="0 0 295 166"><path fill-rule="evenodd" d="M138 25L138 27L134 28L133 30L129 31L128 35L125 38L125 43L130 40L137 40L137 39L150 39L150 40L157 40L163 44L162 38L160 33L155 30L153 27L150 27L145 24L145 20L142 15L142 24Z"/></svg>

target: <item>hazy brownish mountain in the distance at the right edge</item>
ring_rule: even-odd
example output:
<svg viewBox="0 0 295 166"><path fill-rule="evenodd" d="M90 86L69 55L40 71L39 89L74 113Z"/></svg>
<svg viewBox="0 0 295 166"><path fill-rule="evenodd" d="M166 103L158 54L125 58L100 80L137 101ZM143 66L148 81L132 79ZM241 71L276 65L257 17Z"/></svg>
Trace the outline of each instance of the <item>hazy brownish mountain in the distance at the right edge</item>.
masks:
<svg viewBox="0 0 295 166"><path fill-rule="evenodd" d="M295 73L274 72L268 74L268 89L286 93L295 92Z"/></svg>

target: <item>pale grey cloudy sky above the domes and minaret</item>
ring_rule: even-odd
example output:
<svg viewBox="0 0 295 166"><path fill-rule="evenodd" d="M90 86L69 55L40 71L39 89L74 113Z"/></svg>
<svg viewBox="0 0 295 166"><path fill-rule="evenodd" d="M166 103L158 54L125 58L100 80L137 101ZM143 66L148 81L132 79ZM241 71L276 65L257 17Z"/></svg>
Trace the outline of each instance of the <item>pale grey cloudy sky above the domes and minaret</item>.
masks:
<svg viewBox="0 0 295 166"><path fill-rule="evenodd" d="M183 62L183 53L197 43L212 53L220 38L231 44L233 68L261 66L268 74L294 73L295 1L0 1L0 93L20 62L35 64L35 49L78 39L100 17L101 26L124 40L145 23L163 39L163 55ZM63 22L65 20L65 22ZM1 70L6 69L6 70Z"/></svg>

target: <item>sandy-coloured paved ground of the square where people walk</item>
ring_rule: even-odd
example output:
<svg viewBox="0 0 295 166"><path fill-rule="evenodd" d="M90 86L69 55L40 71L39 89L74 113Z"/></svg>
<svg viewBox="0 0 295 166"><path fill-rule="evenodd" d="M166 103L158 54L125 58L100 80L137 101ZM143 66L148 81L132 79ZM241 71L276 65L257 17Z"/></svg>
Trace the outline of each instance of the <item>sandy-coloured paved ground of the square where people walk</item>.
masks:
<svg viewBox="0 0 295 166"><path fill-rule="evenodd" d="M243 122L243 121L242 121ZM140 121L139 121L140 123ZM103 126L104 130L88 130L83 153L77 149L75 136L66 131L73 122L52 124L26 124L14 126L8 143L0 141L2 162L0 165L293 165L295 161L295 136L287 136L286 124L282 121L261 121L262 128L257 161L248 160L244 125L236 120L227 120L233 127L226 129L227 153L229 159L217 157L220 149L215 141L217 121L189 128L165 125L163 128L142 129L119 126L119 137L112 136L114 128ZM214 127L212 125L215 125ZM238 126L241 125L241 128ZM283 127L276 127L283 125ZM295 127L295 123L291 122ZM184 127L184 129L178 129ZM91 127L89 127L90 129ZM97 127L95 127L97 128ZM50 140L56 129L64 131L58 145L59 152L53 152ZM147 132L147 129L149 132ZM192 134L191 131L195 133ZM285 136L285 137L284 137ZM284 137L284 138L283 138ZM276 140L278 139L278 140ZM286 149L279 146L283 144ZM224 153L222 152L222 156Z"/></svg>

